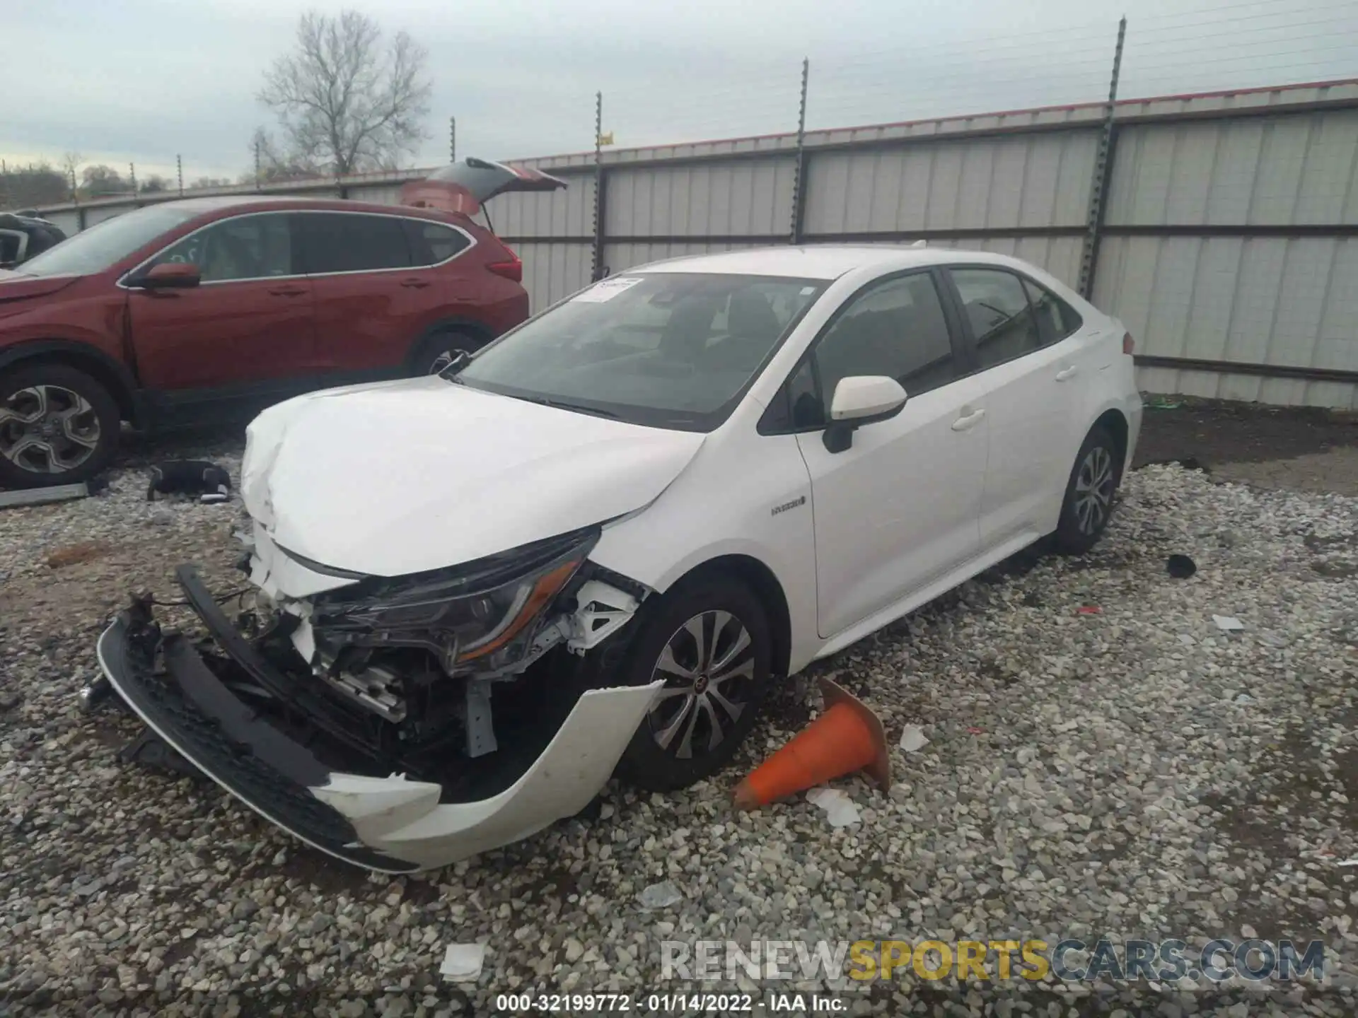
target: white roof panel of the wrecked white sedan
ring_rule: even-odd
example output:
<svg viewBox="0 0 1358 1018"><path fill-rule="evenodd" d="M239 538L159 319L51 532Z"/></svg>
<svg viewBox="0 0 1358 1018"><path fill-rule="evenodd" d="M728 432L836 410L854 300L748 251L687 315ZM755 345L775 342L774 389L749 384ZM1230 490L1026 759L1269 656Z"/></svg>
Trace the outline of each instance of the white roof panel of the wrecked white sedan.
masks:
<svg viewBox="0 0 1358 1018"><path fill-rule="evenodd" d="M801 247L760 247L750 251L672 258L638 265L630 271L648 273L731 273L732 276L784 276L793 280L837 280L854 269L911 269L957 262L1012 265L1013 259L986 251L953 247L913 247L909 244L808 244Z"/></svg>

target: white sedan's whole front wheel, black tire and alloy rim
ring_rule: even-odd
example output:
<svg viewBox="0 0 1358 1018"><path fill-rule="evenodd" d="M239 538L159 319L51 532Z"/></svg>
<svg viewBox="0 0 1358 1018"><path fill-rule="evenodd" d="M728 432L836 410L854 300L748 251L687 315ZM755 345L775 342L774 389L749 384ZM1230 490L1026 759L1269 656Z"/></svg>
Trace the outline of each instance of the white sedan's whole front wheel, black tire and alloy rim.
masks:
<svg viewBox="0 0 1358 1018"><path fill-rule="evenodd" d="M712 574L664 595L625 657L619 681L665 685L618 761L618 776L671 791L710 776L754 728L771 684L773 638L759 599Z"/></svg>

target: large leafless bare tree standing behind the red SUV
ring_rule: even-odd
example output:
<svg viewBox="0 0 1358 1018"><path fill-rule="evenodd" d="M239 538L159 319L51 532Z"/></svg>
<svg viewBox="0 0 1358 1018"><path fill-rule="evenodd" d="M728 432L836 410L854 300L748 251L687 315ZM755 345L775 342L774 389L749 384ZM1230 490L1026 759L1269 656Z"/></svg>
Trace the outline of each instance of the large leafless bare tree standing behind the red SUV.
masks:
<svg viewBox="0 0 1358 1018"><path fill-rule="evenodd" d="M289 149L278 163L342 175L414 153L428 137L426 60L403 31L383 45L382 29L359 11L304 14L296 49L274 62L259 91Z"/></svg>

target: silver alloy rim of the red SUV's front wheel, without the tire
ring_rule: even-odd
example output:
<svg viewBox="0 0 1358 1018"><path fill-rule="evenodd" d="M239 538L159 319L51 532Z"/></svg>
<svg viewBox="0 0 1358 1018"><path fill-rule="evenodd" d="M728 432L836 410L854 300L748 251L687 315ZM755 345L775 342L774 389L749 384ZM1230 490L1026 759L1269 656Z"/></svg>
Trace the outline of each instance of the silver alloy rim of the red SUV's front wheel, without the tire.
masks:
<svg viewBox="0 0 1358 1018"><path fill-rule="evenodd" d="M0 403L0 456L33 474L64 474L99 447L99 415L64 385L30 385Z"/></svg>

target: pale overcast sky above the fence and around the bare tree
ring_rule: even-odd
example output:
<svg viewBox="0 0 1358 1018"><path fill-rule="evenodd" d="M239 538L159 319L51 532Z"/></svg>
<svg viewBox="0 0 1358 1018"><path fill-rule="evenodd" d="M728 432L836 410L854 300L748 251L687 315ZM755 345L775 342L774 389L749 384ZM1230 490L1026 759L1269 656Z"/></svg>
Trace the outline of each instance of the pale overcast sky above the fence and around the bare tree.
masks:
<svg viewBox="0 0 1358 1018"><path fill-rule="evenodd" d="M1126 4L1130 7L1130 4ZM307 8L354 7L429 52L417 164L592 147L593 94L618 145L792 130L801 58L811 126L1107 94L1108 0L0 0L0 157L80 152L139 176L235 176L270 124L265 68ZM1358 77L1358 3L1142 0L1120 94Z"/></svg>

